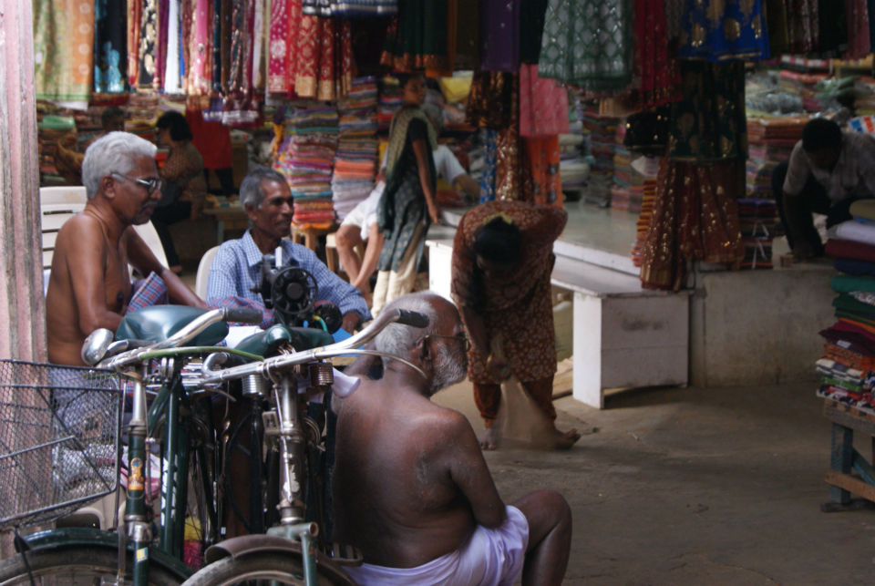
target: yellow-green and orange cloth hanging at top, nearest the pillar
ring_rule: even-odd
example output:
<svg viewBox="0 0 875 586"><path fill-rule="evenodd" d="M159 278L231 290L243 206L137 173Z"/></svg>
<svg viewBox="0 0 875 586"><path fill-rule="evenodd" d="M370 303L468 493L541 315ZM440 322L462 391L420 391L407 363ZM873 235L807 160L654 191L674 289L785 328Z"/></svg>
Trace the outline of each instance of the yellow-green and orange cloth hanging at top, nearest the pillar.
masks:
<svg viewBox="0 0 875 586"><path fill-rule="evenodd" d="M34 0L33 8L36 98L88 102L94 1Z"/></svg>

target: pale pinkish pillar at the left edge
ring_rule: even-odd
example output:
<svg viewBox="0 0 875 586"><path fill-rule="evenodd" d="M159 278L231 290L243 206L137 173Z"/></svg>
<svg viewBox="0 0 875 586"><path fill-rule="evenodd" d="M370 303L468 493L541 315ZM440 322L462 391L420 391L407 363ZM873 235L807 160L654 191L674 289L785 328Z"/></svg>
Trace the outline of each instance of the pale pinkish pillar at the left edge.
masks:
<svg viewBox="0 0 875 586"><path fill-rule="evenodd" d="M30 0L0 13L0 357L45 360Z"/></svg>

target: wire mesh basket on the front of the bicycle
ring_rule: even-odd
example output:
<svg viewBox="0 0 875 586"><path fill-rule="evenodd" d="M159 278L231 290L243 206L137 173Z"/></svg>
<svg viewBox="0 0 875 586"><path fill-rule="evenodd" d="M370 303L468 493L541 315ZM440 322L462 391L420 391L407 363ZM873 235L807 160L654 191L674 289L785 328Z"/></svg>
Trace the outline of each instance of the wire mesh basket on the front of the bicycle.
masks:
<svg viewBox="0 0 875 586"><path fill-rule="evenodd" d="M0 359L0 529L116 489L123 398L111 370Z"/></svg>

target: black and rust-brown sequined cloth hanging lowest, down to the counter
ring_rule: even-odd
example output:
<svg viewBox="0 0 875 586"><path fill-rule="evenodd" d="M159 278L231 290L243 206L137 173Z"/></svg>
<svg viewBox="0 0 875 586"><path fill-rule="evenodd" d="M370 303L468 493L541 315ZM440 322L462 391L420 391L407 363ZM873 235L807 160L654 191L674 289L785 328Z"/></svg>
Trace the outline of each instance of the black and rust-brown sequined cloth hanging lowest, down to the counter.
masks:
<svg viewBox="0 0 875 586"><path fill-rule="evenodd" d="M745 257L736 198L746 193L744 63L681 62L684 98L672 105L643 245L645 288L677 291L689 261L738 268Z"/></svg>

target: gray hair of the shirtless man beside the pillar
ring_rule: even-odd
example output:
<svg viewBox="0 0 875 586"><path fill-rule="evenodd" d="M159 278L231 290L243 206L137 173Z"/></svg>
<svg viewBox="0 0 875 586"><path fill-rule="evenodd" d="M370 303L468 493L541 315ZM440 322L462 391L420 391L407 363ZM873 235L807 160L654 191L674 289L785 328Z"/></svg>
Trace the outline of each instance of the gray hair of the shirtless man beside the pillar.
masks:
<svg viewBox="0 0 875 586"><path fill-rule="evenodd" d="M100 189L100 180L112 173L127 175L140 157L155 158L158 147L129 132L109 132L91 143L82 159L82 183L88 199Z"/></svg>

